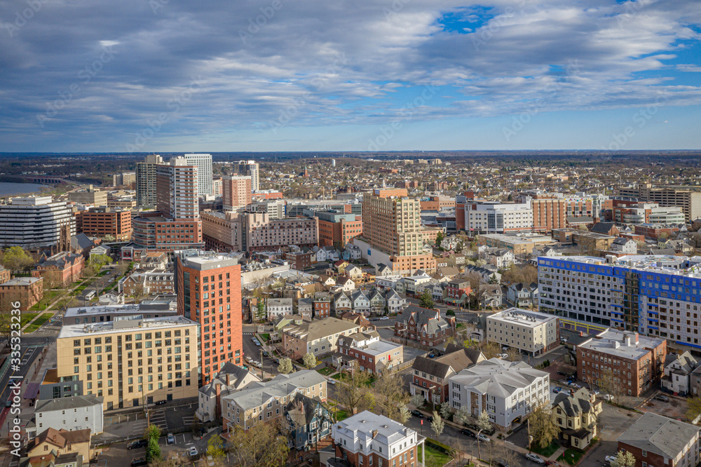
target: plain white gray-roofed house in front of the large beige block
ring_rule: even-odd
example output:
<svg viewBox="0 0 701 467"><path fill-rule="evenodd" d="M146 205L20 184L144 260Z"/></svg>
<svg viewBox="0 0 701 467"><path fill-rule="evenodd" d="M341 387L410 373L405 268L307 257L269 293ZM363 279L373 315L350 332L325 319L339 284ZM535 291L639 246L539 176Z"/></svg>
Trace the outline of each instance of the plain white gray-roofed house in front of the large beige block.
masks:
<svg viewBox="0 0 701 467"><path fill-rule="evenodd" d="M90 428L91 434L102 433L102 398L90 394L37 400L31 437L43 433L46 428L64 428L68 431ZM30 428L27 428L27 435L30 435L29 432Z"/></svg>

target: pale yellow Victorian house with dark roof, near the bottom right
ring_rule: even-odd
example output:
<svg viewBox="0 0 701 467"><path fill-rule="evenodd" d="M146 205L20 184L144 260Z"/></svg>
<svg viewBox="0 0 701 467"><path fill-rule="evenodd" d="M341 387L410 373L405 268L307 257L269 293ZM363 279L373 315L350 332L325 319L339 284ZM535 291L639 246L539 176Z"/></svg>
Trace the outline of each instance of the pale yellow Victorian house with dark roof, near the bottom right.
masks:
<svg viewBox="0 0 701 467"><path fill-rule="evenodd" d="M587 388L562 391L552 402L552 418L569 447L586 449L599 433L601 400Z"/></svg>

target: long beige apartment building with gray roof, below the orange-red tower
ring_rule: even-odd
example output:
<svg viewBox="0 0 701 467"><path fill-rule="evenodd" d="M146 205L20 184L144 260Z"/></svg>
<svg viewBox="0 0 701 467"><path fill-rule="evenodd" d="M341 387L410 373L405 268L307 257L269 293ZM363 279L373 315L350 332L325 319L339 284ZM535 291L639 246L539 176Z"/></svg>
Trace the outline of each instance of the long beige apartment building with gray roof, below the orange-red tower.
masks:
<svg viewBox="0 0 701 467"><path fill-rule="evenodd" d="M297 394L326 401L326 378L316 370L278 374L270 381L253 381L222 398L224 433L235 427L247 430L255 424L282 417L287 402Z"/></svg>

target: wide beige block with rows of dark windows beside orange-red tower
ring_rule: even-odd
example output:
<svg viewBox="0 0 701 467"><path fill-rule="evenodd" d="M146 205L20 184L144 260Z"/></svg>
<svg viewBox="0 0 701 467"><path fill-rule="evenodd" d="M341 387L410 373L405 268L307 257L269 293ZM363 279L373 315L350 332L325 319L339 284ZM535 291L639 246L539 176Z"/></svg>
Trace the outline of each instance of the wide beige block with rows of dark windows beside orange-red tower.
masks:
<svg viewBox="0 0 701 467"><path fill-rule="evenodd" d="M56 339L57 376L83 381L104 409L197 395L199 325L182 316L129 316L64 325Z"/></svg>

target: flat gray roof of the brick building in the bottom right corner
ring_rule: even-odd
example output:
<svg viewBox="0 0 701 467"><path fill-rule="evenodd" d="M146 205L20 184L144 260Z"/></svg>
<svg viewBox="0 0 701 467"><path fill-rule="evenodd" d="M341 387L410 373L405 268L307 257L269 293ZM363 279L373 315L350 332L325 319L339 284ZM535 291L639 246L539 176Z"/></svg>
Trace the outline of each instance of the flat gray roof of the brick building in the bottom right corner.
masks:
<svg viewBox="0 0 701 467"><path fill-rule="evenodd" d="M618 442L676 459L698 434L697 426L646 412L618 437Z"/></svg>

